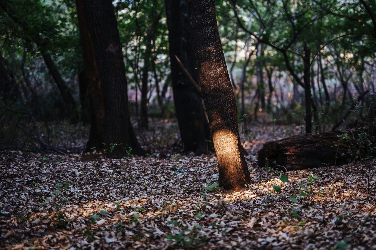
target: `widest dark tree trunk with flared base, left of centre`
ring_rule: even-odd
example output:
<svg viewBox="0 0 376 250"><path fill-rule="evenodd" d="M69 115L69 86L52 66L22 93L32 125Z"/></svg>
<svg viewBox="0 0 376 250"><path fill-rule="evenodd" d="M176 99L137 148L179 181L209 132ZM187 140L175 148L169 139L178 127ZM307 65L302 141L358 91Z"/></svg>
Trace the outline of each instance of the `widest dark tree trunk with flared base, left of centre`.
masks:
<svg viewBox="0 0 376 250"><path fill-rule="evenodd" d="M123 143L132 147L132 153L143 154L129 119L125 67L112 3L77 0L76 5L91 106L85 151Z"/></svg>

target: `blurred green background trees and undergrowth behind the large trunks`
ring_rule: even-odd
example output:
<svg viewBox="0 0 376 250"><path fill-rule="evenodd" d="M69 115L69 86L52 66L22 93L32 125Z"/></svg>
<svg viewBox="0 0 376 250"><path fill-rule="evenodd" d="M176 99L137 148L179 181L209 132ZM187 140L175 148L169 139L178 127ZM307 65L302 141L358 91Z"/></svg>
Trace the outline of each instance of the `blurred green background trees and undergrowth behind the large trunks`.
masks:
<svg viewBox="0 0 376 250"><path fill-rule="evenodd" d="M153 129L150 117L176 116L165 2L112 4L137 134ZM306 125L309 119L313 132L327 131L344 126L349 112L360 121L374 108L373 0L215 4L243 127L246 120ZM53 126L88 124L75 1L0 0L0 33L0 148L20 148L21 134L48 148L56 140Z"/></svg>

